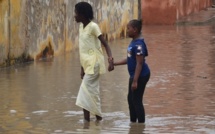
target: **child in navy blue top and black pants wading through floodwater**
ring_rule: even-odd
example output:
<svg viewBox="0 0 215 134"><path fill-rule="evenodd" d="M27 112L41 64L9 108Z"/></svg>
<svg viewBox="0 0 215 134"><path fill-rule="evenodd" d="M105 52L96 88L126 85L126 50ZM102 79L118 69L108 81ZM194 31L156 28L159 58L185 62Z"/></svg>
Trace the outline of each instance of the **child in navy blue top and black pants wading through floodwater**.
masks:
<svg viewBox="0 0 215 134"><path fill-rule="evenodd" d="M130 111L130 121L145 123L145 110L143 106L143 94L147 82L150 78L150 69L145 62L148 56L148 50L141 35L142 22L140 20L131 20L127 25L127 34L132 38L127 49L127 58L114 62L114 65L128 66L129 91L128 105Z"/></svg>

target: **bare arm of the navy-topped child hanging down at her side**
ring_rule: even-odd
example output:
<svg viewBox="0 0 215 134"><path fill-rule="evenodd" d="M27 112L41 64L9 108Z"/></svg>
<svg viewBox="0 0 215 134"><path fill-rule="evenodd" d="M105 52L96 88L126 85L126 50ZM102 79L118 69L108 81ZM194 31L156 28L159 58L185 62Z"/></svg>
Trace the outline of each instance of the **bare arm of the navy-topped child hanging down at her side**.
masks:
<svg viewBox="0 0 215 134"><path fill-rule="evenodd" d="M131 85L132 90L137 89L137 82L138 82L138 78L140 76L142 66L143 66L143 63L144 63L144 56L143 55L136 55L136 61L137 61L137 65L136 65L136 68L135 68L133 83Z"/></svg>

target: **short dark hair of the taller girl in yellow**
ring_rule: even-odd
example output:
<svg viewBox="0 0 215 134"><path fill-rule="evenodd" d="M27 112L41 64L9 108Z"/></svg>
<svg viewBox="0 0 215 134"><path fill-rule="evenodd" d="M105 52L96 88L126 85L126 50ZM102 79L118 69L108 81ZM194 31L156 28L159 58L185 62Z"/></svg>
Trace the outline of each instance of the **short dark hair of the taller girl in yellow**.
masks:
<svg viewBox="0 0 215 134"><path fill-rule="evenodd" d="M79 2L75 5L75 10L78 14L83 15L86 19L92 20L93 17L93 8L87 2Z"/></svg>

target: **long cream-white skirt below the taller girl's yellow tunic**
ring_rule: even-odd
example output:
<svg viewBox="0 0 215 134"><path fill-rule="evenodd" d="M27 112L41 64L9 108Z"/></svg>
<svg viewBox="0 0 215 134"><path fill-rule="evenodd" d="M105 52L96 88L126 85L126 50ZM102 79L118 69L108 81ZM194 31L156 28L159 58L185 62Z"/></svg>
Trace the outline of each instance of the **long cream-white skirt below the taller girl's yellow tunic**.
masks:
<svg viewBox="0 0 215 134"><path fill-rule="evenodd" d="M93 115L101 115L99 90L99 64L94 66L94 74L85 74L82 80L76 105L86 109Z"/></svg>

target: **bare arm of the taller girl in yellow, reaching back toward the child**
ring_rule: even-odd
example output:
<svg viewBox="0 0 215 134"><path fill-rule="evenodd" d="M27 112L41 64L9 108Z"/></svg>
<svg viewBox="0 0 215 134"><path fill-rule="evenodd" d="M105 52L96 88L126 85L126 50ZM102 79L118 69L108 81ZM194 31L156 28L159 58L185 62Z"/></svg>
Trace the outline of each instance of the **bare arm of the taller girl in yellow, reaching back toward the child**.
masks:
<svg viewBox="0 0 215 134"><path fill-rule="evenodd" d="M102 35L100 35L98 38L101 41L101 43L104 45L106 53L108 55L108 63L109 63L108 71L112 71L114 70L114 65L113 65L113 57L112 57L110 46L107 44L107 42L105 41Z"/></svg>

